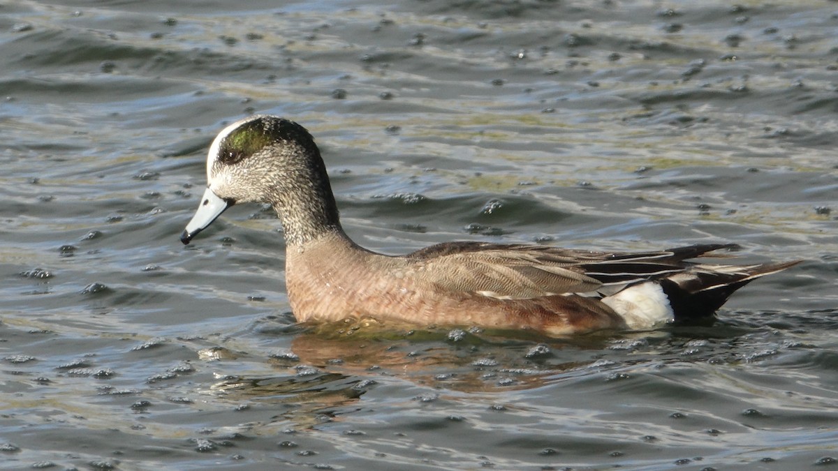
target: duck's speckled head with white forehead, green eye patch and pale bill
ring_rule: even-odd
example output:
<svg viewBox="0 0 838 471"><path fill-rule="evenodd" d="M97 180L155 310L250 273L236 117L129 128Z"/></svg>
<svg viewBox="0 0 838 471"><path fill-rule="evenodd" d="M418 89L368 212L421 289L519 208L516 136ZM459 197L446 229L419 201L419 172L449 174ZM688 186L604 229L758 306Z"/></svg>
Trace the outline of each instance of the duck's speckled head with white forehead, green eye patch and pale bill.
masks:
<svg viewBox="0 0 838 471"><path fill-rule="evenodd" d="M189 244L231 205L246 202L272 204L287 237L295 234L302 215L318 224L339 225L313 137L278 116L250 116L215 137L207 154L207 189L180 240Z"/></svg>

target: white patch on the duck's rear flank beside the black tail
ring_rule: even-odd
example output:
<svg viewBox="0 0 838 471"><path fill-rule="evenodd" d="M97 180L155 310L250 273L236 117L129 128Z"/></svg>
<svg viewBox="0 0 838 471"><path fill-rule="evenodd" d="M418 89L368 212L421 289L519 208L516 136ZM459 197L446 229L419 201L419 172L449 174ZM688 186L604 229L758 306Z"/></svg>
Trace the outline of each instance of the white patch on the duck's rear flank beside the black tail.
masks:
<svg viewBox="0 0 838 471"><path fill-rule="evenodd" d="M658 323L670 322L675 313L664 288L655 282L644 282L603 298L603 303L625 319L629 329L649 329Z"/></svg>

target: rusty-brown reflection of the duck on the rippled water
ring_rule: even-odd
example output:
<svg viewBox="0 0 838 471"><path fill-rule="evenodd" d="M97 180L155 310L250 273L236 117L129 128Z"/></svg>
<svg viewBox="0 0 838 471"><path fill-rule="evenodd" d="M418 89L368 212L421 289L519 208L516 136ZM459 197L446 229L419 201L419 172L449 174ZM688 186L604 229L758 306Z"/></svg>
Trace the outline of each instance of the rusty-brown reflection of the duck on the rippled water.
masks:
<svg viewBox="0 0 838 471"><path fill-rule="evenodd" d="M296 330L290 351L265 359L279 375L227 378L214 389L313 406L349 404L381 381L406 380L442 394L520 391L590 365L609 341L603 334L556 339L521 330L414 329L371 318Z"/></svg>

